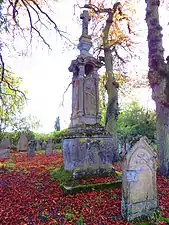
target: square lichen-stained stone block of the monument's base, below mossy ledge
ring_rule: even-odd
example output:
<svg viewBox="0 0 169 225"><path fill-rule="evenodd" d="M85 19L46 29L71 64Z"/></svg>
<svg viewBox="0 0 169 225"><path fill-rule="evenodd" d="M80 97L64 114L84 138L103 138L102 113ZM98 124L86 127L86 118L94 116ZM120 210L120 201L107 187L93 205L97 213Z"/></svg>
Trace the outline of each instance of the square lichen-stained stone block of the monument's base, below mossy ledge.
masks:
<svg viewBox="0 0 169 225"><path fill-rule="evenodd" d="M112 140L108 137L76 137L64 139L63 157L65 170L81 170L90 168L110 169L113 161Z"/></svg>

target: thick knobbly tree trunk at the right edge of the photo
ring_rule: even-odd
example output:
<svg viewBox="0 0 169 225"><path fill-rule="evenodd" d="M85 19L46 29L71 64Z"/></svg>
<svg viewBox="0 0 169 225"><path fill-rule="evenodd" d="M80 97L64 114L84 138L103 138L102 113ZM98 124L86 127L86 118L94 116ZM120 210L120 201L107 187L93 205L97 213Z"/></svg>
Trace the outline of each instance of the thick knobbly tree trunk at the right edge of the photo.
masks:
<svg viewBox="0 0 169 225"><path fill-rule="evenodd" d="M147 0L149 72L152 98L156 103L158 168L169 176L169 65L164 60L162 27L159 23L159 0Z"/></svg>

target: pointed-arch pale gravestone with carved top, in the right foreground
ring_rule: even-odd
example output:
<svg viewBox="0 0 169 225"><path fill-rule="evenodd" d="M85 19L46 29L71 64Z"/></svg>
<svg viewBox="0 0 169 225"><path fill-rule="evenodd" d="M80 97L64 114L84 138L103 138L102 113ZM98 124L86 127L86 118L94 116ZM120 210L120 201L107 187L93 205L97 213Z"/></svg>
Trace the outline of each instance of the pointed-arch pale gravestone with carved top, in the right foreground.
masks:
<svg viewBox="0 0 169 225"><path fill-rule="evenodd" d="M142 137L122 163L122 216L131 221L148 216L157 207L156 155Z"/></svg>

